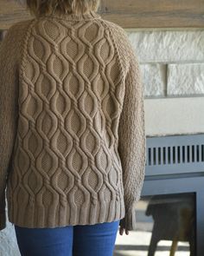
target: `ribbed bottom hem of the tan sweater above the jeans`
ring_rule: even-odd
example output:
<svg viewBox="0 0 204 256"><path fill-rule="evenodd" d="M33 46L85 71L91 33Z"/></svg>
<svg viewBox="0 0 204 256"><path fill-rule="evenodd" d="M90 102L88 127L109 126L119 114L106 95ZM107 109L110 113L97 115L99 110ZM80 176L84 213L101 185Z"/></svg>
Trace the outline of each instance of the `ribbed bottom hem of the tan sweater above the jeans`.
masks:
<svg viewBox="0 0 204 256"><path fill-rule="evenodd" d="M16 194L11 198L9 192L7 197L8 220L17 226L30 228L93 225L121 220L125 214L123 197L110 201L87 202L81 206L73 206L68 201L55 202L48 208L32 200L29 200L27 207L22 207L16 203Z"/></svg>

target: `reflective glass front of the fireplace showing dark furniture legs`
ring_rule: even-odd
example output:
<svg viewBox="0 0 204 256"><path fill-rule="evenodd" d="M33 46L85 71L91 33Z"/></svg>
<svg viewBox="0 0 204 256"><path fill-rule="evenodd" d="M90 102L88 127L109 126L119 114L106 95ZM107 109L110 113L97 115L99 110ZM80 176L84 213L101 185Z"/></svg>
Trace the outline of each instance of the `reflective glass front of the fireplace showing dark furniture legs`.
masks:
<svg viewBox="0 0 204 256"><path fill-rule="evenodd" d="M143 196L137 230L117 236L115 256L194 256L194 193Z"/></svg>

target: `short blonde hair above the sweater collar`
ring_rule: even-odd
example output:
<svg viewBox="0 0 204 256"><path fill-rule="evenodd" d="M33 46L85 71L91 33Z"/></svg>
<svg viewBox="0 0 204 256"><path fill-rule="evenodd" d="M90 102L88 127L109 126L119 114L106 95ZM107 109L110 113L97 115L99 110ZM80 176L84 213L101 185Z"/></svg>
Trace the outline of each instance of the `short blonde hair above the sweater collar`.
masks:
<svg viewBox="0 0 204 256"><path fill-rule="evenodd" d="M82 14L99 9L100 0L27 0L27 8L34 16L55 12Z"/></svg>

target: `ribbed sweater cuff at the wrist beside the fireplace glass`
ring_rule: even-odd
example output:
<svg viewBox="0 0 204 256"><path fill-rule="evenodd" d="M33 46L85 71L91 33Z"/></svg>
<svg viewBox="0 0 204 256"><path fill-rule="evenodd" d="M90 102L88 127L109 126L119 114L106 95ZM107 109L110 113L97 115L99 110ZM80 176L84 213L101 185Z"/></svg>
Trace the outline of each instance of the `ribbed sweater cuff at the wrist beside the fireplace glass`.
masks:
<svg viewBox="0 0 204 256"><path fill-rule="evenodd" d="M120 220L119 226L126 230L136 230L136 204L137 200L131 201L128 206L125 207L125 215L124 218Z"/></svg>

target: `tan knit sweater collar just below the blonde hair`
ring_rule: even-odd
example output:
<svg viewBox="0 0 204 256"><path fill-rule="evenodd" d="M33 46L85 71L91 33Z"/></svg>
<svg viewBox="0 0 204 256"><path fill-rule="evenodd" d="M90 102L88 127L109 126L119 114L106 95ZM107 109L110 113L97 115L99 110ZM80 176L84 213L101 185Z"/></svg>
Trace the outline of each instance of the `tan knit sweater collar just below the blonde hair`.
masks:
<svg viewBox="0 0 204 256"><path fill-rule="evenodd" d="M70 21L71 20L73 21L93 20L96 18L101 18L101 16L93 10L83 14L74 14L74 13L65 14L65 13L54 12L53 14L41 15L41 16L56 17L60 19L70 20Z"/></svg>

